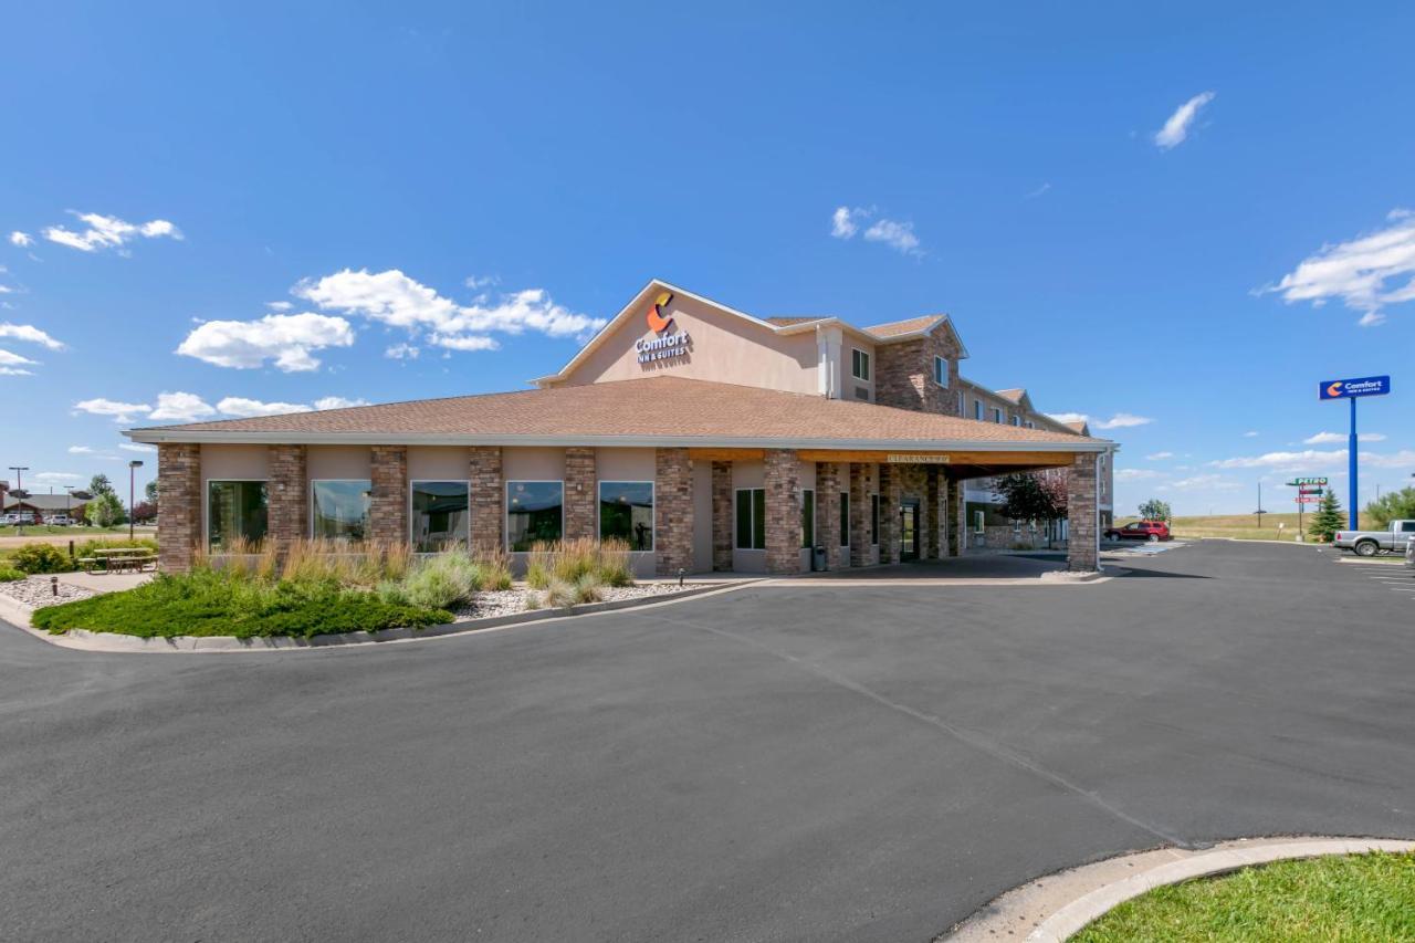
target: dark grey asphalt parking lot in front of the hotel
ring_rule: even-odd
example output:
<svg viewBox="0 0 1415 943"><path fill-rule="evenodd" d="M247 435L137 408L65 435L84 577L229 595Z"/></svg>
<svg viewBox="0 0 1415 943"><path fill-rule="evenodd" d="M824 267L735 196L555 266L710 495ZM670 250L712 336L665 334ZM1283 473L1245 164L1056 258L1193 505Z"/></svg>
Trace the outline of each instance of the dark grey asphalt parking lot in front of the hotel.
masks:
<svg viewBox="0 0 1415 943"><path fill-rule="evenodd" d="M0 626L0 937L923 942L1126 850L1415 838L1407 572L1126 566L364 650Z"/></svg>

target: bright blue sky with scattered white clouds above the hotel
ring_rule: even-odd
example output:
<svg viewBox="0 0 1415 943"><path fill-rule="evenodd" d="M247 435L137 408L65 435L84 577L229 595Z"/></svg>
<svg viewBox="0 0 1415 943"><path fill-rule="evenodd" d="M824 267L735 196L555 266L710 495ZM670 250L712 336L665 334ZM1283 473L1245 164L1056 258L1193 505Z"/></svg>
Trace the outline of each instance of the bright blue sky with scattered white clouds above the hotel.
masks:
<svg viewBox="0 0 1415 943"><path fill-rule="evenodd" d="M11 7L3 464L516 388L658 276L951 313L969 378L1145 421L1121 511L1341 471L1339 377L1394 375L1363 500L1409 480L1408 4L763 6Z"/></svg>

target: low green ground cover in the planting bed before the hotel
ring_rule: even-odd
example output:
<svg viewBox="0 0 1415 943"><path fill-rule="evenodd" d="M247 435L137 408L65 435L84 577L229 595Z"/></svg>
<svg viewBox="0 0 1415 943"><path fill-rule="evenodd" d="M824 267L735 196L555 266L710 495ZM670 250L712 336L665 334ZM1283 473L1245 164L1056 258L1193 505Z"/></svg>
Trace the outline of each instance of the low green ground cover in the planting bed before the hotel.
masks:
<svg viewBox="0 0 1415 943"><path fill-rule="evenodd" d="M143 639L171 636L310 636L376 631L451 622L444 609L406 602L334 581L266 582L239 571L161 573L136 589L45 606L33 623Z"/></svg>

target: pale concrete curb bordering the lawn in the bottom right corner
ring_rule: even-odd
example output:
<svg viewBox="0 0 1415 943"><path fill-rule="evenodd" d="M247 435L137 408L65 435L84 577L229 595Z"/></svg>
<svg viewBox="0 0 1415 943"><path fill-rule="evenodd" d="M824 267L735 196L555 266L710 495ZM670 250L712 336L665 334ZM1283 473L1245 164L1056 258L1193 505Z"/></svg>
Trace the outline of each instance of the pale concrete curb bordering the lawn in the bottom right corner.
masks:
<svg viewBox="0 0 1415 943"><path fill-rule="evenodd" d="M1415 851L1415 841L1312 835L1244 838L1204 851L1159 848L1118 855L1029 881L1003 893L940 940L972 943L1027 933L1024 939L1034 943L1063 943L1118 905L1155 888L1274 861L1367 851Z"/></svg>

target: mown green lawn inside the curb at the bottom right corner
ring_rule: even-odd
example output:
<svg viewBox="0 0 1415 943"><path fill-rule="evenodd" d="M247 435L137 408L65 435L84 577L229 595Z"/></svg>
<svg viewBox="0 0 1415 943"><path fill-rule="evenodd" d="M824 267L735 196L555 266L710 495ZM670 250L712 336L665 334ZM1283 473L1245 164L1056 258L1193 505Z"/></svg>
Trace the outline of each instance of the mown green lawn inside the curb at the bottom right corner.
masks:
<svg viewBox="0 0 1415 943"><path fill-rule="evenodd" d="M1279 861L1157 888L1073 943L1415 940L1415 852Z"/></svg>

